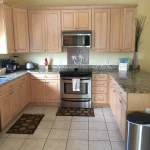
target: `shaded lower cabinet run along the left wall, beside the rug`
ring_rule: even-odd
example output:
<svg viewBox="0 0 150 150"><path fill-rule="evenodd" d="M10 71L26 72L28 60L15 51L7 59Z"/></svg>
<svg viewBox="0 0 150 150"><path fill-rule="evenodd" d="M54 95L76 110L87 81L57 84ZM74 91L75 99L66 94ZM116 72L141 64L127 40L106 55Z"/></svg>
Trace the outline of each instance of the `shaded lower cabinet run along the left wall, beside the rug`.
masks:
<svg viewBox="0 0 150 150"><path fill-rule="evenodd" d="M0 96L2 129L26 106L30 96L29 80L16 79L14 82L17 85L10 86L11 88Z"/></svg>

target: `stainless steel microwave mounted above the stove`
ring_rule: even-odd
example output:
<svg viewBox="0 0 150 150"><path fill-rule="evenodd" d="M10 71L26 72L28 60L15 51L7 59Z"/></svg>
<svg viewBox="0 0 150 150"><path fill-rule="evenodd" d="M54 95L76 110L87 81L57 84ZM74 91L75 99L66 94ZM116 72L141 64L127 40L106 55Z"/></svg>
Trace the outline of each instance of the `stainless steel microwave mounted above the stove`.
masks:
<svg viewBox="0 0 150 150"><path fill-rule="evenodd" d="M91 31L63 31L62 47L91 47Z"/></svg>

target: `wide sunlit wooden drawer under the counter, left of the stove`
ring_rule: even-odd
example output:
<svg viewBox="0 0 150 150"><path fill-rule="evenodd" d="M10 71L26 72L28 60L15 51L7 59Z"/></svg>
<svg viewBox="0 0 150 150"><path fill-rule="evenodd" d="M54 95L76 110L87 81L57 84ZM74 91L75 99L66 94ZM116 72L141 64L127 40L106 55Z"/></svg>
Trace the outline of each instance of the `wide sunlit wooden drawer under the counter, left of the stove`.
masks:
<svg viewBox="0 0 150 150"><path fill-rule="evenodd" d="M59 74L32 74L31 79L60 79Z"/></svg>

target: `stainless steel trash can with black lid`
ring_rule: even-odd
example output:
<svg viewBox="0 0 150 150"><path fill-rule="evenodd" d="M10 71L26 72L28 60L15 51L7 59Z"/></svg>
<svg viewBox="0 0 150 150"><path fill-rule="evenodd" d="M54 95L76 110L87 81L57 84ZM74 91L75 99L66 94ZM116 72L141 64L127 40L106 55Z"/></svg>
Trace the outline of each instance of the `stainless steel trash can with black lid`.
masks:
<svg viewBox="0 0 150 150"><path fill-rule="evenodd" d="M150 114L134 112L127 122L126 150L150 150Z"/></svg>

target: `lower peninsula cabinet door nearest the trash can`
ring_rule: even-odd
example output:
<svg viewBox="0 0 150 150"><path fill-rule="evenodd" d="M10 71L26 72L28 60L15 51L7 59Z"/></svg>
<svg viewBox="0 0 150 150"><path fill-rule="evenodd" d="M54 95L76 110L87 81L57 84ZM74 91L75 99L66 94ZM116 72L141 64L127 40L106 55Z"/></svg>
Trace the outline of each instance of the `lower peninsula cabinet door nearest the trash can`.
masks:
<svg viewBox="0 0 150 150"><path fill-rule="evenodd" d="M126 126L127 126L127 121L126 121L126 117L127 117L127 105L124 101L122 101L122 113L121 113L121 132L122 132L122 137L123 140L126 140Z"/></svg>

